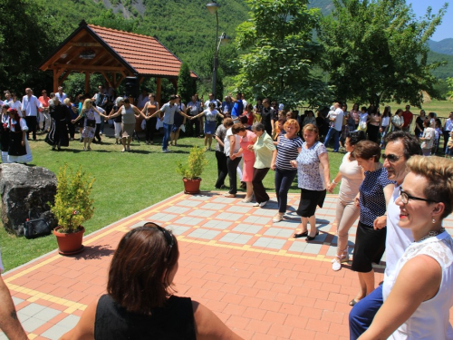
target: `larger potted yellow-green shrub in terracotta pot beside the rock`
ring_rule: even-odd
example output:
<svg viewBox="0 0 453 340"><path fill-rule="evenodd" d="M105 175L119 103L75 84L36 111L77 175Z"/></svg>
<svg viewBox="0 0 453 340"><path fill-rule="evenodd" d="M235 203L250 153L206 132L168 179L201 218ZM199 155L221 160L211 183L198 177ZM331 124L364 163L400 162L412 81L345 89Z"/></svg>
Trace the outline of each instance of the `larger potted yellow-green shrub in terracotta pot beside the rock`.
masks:
<svg viewBox="0 0 453 340"><path fill-rule="evenodd" d="M94 212L92 183L94 179L82 167L72 173L64 164L57 175L57 193L51 211L58 226L54 228L59 252L62 255L73 255L83 250L82 238L85 228L82 223L92 218Z"/></svg>

